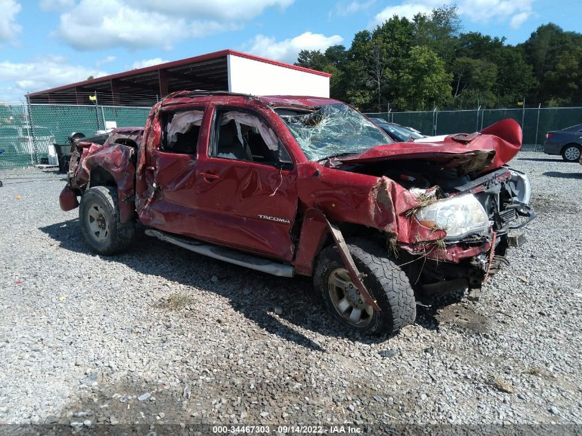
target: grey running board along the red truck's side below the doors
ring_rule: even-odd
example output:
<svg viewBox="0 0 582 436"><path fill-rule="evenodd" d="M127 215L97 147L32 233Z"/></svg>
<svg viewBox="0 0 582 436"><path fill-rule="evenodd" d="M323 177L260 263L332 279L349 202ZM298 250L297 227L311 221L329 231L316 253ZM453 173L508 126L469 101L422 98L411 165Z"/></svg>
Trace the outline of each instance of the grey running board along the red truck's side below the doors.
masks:
<svg viewBox="0 0 582 436"><path fill-rule="evenodd" d="M259 258L258 256L241 253L240 251L227 249L225 247L219 247L218 245L180 238L179 236L174 236L160 230L147 229L145 234L178 245L178 247L194 251L194 253L203 254L204 256L213 259L223 260L224 262L229 262L240 267L247 267L263 273L273 274L273 276L278 277L295 276L295 269L291 267L291 265L273 262L273 260Z"/></svg>

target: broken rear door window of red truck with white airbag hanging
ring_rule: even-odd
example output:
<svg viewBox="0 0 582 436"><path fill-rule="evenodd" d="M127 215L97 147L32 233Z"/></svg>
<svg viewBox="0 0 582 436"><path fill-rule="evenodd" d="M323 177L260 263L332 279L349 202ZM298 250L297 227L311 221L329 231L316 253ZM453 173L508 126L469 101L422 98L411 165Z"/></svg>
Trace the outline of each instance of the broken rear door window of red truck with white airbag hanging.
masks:
<svg viewBox="0 0 582 436"><path fill-rule="evenodd" d="M162 148L166 152L196 154L203 116L202 110L165 114Z"/></svg>

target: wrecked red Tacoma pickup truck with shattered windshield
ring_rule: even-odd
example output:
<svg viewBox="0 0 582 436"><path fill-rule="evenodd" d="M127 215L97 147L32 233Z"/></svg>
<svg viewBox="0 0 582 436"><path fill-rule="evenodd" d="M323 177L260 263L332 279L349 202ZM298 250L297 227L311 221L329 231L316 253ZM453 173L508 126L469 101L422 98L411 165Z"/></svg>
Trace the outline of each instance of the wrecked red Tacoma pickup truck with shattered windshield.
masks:
<svg viewBox="0 0 582 436"><path fill-rule="evenodd" d="M81 140L85 141L85 139ZM276 276L313 276L339 320L395 333L416 295L475 295L534 218L506 166L503 120L439 143L392 143L331 98L176 92L143 127L72 147L61 209L79 206L92 251L160 240Z"/></svg>

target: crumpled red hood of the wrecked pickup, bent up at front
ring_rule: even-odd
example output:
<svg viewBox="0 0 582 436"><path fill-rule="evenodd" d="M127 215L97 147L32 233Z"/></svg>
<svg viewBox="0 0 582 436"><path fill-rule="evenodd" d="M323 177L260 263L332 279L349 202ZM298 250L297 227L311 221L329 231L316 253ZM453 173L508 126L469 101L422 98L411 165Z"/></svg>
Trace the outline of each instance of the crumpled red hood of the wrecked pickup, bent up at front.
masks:
<svg viewBox="0 0 582 436"><path fill-rule="evenodd" d="M474 134L454 134L444 141L377 145L355 156L338 158L342 163L373 163L381 160L419 159L436 162L459 173L486 172L508 163L521 149L521 127L512 118L498 121Z"/></svg>

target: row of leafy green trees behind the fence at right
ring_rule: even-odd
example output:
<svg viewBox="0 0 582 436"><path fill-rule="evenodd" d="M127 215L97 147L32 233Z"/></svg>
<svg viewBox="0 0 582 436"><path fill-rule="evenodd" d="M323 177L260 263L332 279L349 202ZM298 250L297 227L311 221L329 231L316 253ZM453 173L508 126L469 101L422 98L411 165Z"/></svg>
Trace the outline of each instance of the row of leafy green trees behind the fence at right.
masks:
<svg viewBox="0 0 582 436"><path fill-rule="evenodd" d="M548 23L510 45L461 32L457 6L394 16L295 65L333 74L331 96L366 111L582 105L582 34Z"/></svg>

